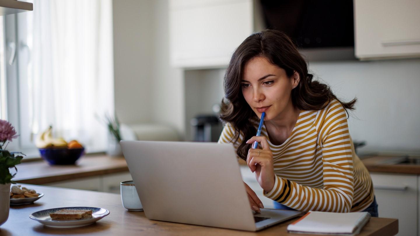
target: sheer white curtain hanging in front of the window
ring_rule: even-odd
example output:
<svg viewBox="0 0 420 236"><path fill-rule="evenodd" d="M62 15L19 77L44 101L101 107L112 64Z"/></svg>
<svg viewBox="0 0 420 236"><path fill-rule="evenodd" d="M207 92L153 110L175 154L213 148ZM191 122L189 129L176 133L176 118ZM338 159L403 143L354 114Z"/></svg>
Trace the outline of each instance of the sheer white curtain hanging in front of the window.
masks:
<svg viewBox="0 0 420 236"><path fill-rule="evenodd" d="M112 0L34 0L26 16L28 125L104 150L113 114Z"/></svg>

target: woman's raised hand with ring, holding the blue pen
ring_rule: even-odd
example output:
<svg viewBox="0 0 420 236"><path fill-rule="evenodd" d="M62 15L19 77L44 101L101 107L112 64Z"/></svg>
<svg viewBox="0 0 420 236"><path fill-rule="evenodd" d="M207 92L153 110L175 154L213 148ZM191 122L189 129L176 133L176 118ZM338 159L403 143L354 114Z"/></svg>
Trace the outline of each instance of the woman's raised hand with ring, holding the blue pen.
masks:
<svg viewBox="0 0 420 236"><path fill-rule="evenodd" d="M249 149L247 164L249 169L255 173L261 188L269 192L274 187L274 178L276 177L274 174L273 153L264 136L253 136L247 143L252 144L255 141L261 144L262 149Z"/></svg>

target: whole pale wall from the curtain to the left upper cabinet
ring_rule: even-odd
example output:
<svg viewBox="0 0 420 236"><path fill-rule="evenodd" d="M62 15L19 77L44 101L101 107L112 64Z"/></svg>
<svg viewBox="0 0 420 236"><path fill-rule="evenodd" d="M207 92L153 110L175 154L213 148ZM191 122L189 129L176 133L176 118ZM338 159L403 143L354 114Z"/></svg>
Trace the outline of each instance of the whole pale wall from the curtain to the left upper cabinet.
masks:
<svg viewBox="0 0 420 236"><path fill-rule="evenodd" d="M184 136L184 74L169 66L167 0L114 0L115 111Z"/></svg>

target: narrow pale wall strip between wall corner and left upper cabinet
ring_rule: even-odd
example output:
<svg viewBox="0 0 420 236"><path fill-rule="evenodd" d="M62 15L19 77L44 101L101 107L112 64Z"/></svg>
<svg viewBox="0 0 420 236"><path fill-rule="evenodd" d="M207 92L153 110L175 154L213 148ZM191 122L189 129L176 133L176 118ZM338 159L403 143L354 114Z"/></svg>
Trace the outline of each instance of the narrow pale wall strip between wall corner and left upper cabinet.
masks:
<svg viewBox="0 0 420 236"><path fill-rule="evenodd" d="M169 125L178 130L181 137L184 127L184 71L169 65L169 18L168 0L154 0L153 5L153 52L151 82L151 110L155 123Z"/></svg>

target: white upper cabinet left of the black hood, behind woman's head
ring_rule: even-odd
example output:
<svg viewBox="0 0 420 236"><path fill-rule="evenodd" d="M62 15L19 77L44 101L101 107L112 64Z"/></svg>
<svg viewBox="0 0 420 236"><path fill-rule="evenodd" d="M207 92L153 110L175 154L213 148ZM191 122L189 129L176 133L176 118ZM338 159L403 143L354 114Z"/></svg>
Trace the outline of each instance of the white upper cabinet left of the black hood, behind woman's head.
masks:
<svg viewBox="0 0 420 236"><path fill-rule="evenodd" d="M232 52L252 33L252 0L171 0L171 65L226 66Z"/></svg>

